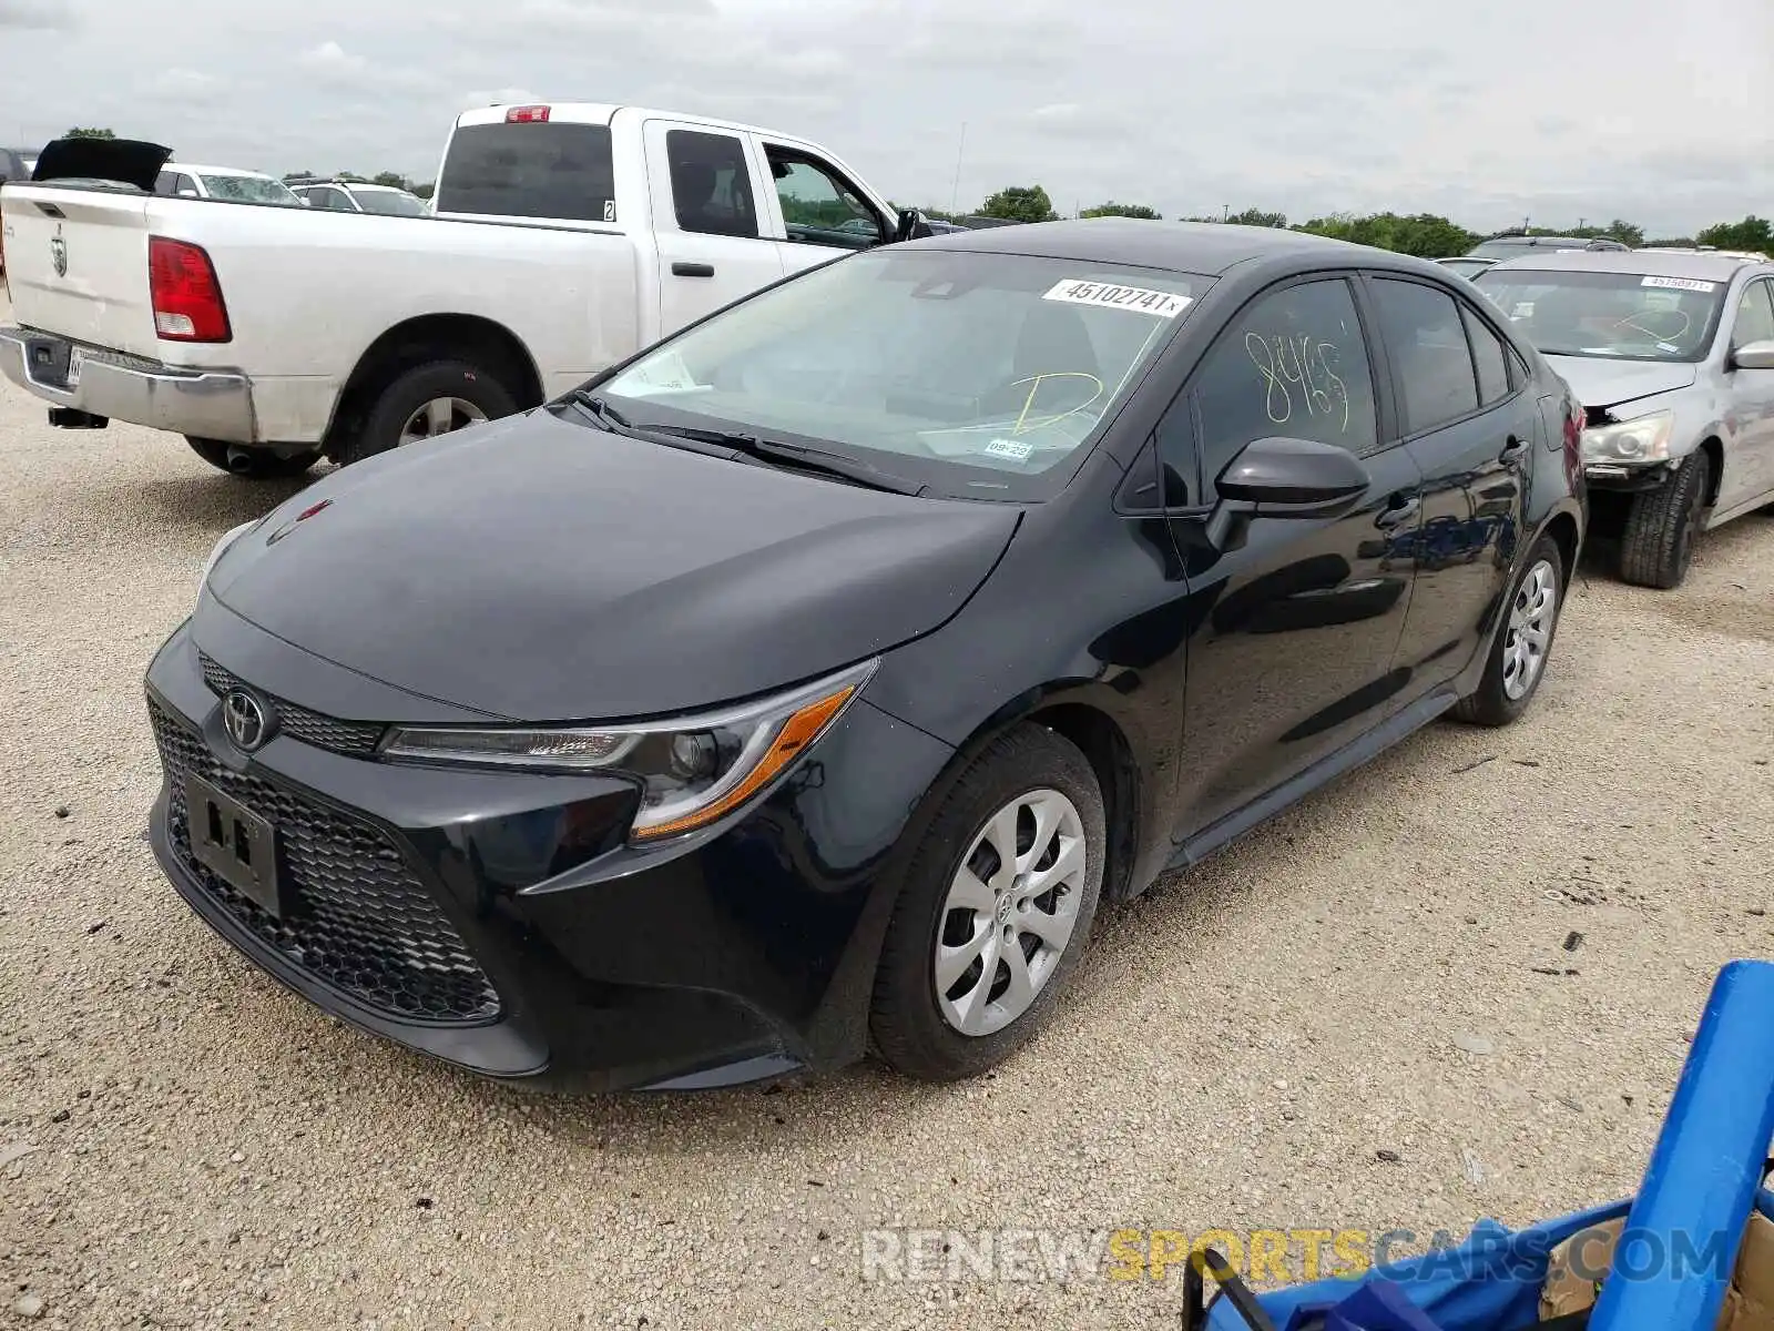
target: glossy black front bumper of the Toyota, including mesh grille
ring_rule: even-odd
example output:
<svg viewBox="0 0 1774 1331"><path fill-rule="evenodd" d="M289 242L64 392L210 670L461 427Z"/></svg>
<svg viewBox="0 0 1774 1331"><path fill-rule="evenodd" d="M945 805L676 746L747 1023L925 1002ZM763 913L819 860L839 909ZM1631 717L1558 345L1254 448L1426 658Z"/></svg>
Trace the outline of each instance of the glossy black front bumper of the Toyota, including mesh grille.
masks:
<svg viewBox="0 0 1774 1331"><path fill-rule="evenodd" d="M624 781L348 756L349 728L316 729L270 690L296 724L241 754L218 658L245 671L257 650L206 637L200 655L184 626L156 655L151 841L192 909L289 988L559 1090L734 1084L866 1051L899 834L947 745L859 701L736 823L639 852ZM186 776L279 823L282 921L192 855Z"/></svg>

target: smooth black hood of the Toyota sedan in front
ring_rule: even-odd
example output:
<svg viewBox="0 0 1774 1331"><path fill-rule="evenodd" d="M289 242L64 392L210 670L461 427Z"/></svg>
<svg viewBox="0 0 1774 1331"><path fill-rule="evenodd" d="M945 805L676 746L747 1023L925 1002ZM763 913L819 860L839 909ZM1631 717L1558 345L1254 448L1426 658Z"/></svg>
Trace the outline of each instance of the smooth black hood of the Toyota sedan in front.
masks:
<svg viewBox="0 0 1774 1331"><path fill-rule="evenodd" d="M539 410L309 486L229 547L209 595L413 694L614 721L768 692L928 634L992 571L1018 513Z"/></svg>

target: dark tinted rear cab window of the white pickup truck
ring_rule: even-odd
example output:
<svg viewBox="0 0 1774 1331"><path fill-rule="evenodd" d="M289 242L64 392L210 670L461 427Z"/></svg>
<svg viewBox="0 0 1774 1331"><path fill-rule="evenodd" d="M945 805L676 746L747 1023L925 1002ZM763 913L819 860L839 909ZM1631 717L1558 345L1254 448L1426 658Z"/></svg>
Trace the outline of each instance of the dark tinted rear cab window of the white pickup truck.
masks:
<svg viewBox="0 0 1774 1331"><path fill-rule="evenodd" d="M444 156L436 211L616 222L610 126L465 124Z"/></svg>

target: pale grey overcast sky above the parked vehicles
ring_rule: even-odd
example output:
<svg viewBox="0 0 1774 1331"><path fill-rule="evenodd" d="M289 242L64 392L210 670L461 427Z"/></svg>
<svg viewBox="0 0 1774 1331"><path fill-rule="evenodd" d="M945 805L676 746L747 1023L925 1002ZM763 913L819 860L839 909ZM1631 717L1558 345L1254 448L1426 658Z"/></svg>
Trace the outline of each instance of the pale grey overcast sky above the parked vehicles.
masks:
<svg viewBox="0 0 1774 1331"><path fill-rule="evenodd" d="M1439 9L1446 18L1430 18ZM0 142L431 179L465 106L777 126L896 202L1774 213L1770 0L0 0Z"/></svg>

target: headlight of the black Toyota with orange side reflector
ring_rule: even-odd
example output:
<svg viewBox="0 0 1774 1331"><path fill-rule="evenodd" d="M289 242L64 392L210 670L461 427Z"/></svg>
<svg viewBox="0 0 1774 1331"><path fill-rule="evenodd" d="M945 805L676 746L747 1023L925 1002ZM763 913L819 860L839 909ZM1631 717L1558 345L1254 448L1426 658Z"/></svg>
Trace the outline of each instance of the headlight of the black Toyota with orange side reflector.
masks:
<svg viewBox="0 0 1774 1331"><path fill-rule="evenodd" d="M832 728L875 666L869 660L757 703L635 726L408 726L389 735L381 754L543 772L621 772L642 783L630 834L653 841L704 827L761 793Z"/></svg>

